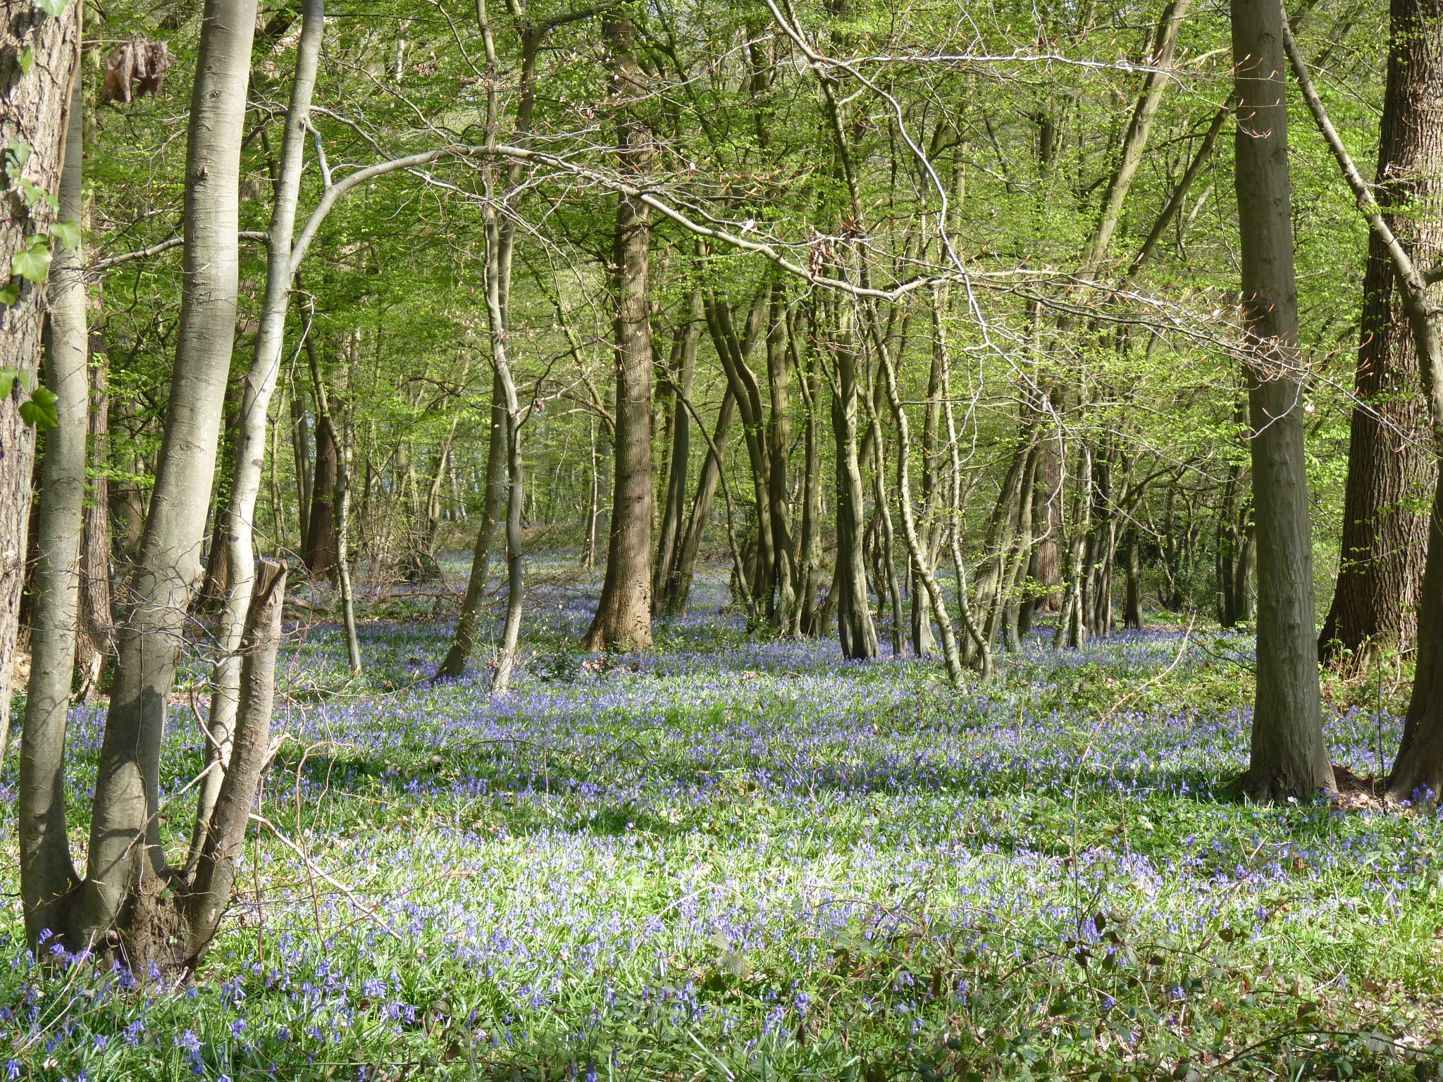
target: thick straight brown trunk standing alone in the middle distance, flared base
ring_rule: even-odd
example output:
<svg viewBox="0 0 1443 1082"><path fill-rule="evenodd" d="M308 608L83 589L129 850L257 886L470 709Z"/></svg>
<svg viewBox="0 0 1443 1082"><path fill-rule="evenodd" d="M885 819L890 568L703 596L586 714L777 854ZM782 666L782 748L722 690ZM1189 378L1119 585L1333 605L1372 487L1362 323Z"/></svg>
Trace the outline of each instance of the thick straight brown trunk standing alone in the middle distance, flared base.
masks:
<svg viewBox="0 0 1443 1082"><path fill-rule="evenodd" d="M618 97L618 154L622 172L644 176L654 156L649 128L635 115L645 94L645 74L636 62L636 27L629 17L609 16L603 32L610 49L612 91ZM616 479L612 531L606 550L606 580L596 619L582 648L651 646L651 211L635 196L616 201Z"/></svg>

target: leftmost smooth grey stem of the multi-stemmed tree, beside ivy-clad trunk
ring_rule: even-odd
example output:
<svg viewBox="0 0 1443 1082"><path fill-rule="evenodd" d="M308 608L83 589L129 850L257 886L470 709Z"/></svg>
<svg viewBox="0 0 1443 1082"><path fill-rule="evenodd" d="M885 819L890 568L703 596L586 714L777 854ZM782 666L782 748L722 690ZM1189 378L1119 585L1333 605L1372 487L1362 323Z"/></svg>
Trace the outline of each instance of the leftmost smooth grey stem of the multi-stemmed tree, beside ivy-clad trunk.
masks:
<svg viewBox="0 0 1443 1082"><path fill-rule="evenodd" d="M61 221L81 218L81 81L75 79ZM30 949L45 929L62 931L63 906L79 883L65 831L65 723L71 705L79 617L79 558L85 503L88 333L81 251L61 248L51 261L51 333L45 385L59 424L45 434L40 508L36 518L35 600L30 620L30 685L20 731L20 899Z"/></svg>

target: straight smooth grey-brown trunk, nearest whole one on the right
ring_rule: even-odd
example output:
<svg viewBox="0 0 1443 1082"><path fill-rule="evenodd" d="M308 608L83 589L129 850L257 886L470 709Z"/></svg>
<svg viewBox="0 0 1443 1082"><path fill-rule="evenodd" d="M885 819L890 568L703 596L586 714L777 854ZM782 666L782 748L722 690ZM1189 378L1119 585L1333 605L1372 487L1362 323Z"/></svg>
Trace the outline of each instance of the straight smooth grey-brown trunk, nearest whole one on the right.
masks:
<svg viewBox="0 0 1443 1082"><path fill-rule="evenodd" d="M1283 9L1232 0L1234 140L1253 506L1258 542L1257 698L1242 789L1257 801L1333 788L1313 620L1313 535L1297 348Z"/></svg>

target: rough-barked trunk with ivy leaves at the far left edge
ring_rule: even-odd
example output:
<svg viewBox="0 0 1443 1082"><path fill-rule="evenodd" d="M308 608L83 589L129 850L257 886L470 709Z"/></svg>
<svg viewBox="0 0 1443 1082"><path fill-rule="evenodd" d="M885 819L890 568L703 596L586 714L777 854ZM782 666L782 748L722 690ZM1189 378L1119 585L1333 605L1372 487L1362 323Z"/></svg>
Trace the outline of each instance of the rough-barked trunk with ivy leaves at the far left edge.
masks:
<svg viewBox="0 0 1443 1082"><path fill-rule="evenodd" d="M46 14L32 0L0 0L0 153L12 176L40 192L59 188L69 127L71 85L79 61L79 3L59 16ZM22 164L23 162L23 164ZM46 274L27 280L13 273L13 258L33 251L48 255L58 242L48 237L53 222L46 199L22 198L10 183L0 214L0 369L19 374L23 390L35 385L45 325ZM30 248L30 238L43 247ZM32 260L32 265L35 260ZM40 264L43 267L43 264ZM0 400L0 762L10 731L10 674L20 632L20 591L30 522L30 476L35 431L20 417L16 395Z"/></svg>

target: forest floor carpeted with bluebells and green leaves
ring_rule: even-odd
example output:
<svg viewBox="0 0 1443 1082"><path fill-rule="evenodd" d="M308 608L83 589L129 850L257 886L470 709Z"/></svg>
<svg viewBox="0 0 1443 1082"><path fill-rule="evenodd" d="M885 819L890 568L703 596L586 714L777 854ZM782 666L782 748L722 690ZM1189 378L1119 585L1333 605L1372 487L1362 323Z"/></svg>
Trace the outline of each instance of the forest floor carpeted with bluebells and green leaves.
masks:
<svg viewBox="0 0 1443 1082"><path fill-rule="evenodd" d="M538 591L499 701L429 682L447 623L362 625L361 682L336 628L294 632L270 827L196 987L35 967L7 831L6 1078L1437 1076L1443 821L1232 796L1248 639L1036 639L958 692L749 639L720 580L654 652L586 659L595 589ZM1339 763L1377 770L1403 690L1329 685ZM78 804L102 718L74 716ZM166 792L201 766L172 726Z"/></svg>

